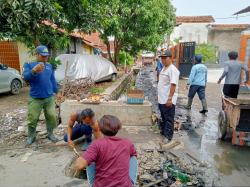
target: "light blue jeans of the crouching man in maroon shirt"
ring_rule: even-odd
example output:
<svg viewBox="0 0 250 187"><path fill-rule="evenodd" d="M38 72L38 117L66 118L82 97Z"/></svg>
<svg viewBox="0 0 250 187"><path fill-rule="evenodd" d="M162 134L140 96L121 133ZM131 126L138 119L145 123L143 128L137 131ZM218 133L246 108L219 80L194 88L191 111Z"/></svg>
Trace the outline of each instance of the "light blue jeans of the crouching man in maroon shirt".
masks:
<svg viewBox="0 0 250 187"><path fill-rule="evenodd" d="M129 176L133 185L135 185L136 183L137 171L138 171L138 161L136 157L133 156L130 158L129 162ZM87 167L87 177L88 177L89 187L92 187L94 185L95 173L96 173L95 163L92 163Z"/></svg>

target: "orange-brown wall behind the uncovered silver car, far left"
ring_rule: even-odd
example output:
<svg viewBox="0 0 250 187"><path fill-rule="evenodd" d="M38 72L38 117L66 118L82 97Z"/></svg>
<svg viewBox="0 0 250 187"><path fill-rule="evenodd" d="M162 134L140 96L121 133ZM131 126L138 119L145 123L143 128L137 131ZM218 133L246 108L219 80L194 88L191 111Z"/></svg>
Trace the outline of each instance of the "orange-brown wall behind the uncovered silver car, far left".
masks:
<svg viewBox="0 0 250 187"><path fill-rule="evenodd" d="M0 63L20 71L18 47L16 42L0 41Z"/></svg>

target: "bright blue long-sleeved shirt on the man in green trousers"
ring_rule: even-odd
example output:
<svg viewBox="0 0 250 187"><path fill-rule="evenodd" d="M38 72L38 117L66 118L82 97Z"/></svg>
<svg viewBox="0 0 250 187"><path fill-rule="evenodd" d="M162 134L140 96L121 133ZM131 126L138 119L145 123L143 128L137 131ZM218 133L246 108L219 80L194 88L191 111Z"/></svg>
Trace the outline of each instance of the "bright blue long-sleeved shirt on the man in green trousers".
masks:
<svg viewBox="0 0 250 187"><path fill-rule="evenodd" d="M32 73L32 69L39 63L25 63L23 77L30 84L30 96L32 98L49 98L58 91L54 69L51 64L45 63L42 72Z"/></svg>

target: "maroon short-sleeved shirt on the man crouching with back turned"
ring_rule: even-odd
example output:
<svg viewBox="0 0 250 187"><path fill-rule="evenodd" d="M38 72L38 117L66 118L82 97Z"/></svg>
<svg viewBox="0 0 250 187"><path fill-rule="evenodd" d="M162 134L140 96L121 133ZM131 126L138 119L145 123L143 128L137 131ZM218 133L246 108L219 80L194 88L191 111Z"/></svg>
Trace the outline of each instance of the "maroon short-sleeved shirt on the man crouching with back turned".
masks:
<svg viewBox="0 0 250 187"><path fill-rule="evenodd" d="M127 139L116 136L95 140L83 158L90 165L96 163L94 187L131 187L129 161L136 156L134 145Z"/></svg>

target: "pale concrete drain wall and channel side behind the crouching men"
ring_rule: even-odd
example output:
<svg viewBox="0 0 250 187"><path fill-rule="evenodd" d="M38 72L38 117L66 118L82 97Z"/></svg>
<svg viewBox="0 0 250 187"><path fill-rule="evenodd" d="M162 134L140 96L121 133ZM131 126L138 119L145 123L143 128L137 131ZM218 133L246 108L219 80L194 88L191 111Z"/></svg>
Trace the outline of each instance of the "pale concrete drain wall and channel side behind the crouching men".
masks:
<svg viewBox="0 0 250 187"><path fill-rule="evenodd" d="M135 79L135 75L138 74L138 72L139 69L134 69L129 74L124 75L120 81L107 88L103 95L108 99L119 98L120 94L122 94ZM131 105L117 100L100 104L83 104L75 100L66 100L61 104L62 124L67 125L72 112L85 108L91 108L96 113L97 118L103 115L117 116L123 125L152 125L152 104L149 101L145 101L142 105Z"/></svg>

